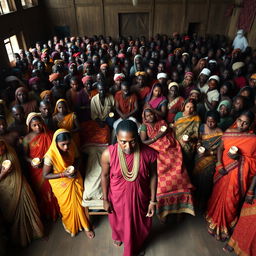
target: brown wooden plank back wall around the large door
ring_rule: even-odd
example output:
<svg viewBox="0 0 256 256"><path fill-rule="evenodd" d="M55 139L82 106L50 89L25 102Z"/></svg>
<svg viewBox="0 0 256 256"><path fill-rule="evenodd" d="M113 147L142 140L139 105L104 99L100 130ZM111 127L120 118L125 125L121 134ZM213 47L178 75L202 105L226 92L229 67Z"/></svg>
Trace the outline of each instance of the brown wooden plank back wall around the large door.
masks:
<svg viewBox="0 0 256 256"><path fill-rule="evenodd" d="M148 12L149 36L187 32L190 22L201 23L199 33L227 34L224 13L234 0L45 0L50 23L69 26L72 35L119 36L119 13ZM52 30L53 33L53 30Z"/></svg>

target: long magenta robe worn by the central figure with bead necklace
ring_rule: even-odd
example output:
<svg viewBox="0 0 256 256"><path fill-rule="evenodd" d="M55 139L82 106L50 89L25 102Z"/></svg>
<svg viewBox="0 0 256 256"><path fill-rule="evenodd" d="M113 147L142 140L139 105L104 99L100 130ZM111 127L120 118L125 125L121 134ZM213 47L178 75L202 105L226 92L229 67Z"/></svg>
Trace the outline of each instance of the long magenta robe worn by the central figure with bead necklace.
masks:
<svg viewBox="0 0 256 256"><path fill-rule="evenodd" d="M139 253L147 238L152 218L147 218L150 201L150 165L156 161L157 153L140 145L140 167L137 178L130 182L124 179L118 158L118 144L109 146L110 184L109 201L113 212L109 214L112 238L124 243L124 256ZM133 167L134 153L125 154L128 170Z"/></svg>

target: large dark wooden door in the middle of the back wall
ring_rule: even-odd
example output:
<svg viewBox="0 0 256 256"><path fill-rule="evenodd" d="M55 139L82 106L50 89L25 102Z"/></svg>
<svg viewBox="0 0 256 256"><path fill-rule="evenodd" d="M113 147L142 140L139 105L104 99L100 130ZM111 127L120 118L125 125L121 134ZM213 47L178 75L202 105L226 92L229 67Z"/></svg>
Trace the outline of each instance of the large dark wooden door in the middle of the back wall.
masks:
<svg viewBox="0 0 256 256"><path fill-rule="evenodd" d="M149 13L119 13L119 35L149 36Z"/></svg>

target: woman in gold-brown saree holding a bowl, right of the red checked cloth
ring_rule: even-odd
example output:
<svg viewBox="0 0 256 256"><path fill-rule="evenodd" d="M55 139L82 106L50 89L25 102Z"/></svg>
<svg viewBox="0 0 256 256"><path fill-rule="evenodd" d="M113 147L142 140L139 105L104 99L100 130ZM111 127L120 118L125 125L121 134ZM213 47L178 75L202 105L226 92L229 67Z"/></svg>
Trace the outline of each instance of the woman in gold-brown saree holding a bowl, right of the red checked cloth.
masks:
<svg viewBox="0 0 256 256"><path fill-rule="evenodd" d="M175 137L181 145L184 161L190 172L192 171L191 163L194 159L200 126L200 117L196 113L196 103L193 99L185 101L182 112L176 114L174 121Z"/></svg>

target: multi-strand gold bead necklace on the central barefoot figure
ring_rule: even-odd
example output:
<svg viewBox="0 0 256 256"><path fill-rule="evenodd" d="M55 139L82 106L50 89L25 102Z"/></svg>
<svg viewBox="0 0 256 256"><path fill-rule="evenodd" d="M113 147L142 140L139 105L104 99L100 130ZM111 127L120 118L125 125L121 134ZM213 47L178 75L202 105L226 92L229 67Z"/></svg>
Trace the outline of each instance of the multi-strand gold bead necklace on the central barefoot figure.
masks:
<svg viewBox="0 0 256 256"><path fill-rule="evenodd" d="M130 182L136 180L138 173L139 173L139 167L140 167L139 145L137 145L134 150L133 166L132 166L131 172L128 171L124 153L119 145L118 145L118 158L119 158L119 163L120 163L120 167L121 167L121 173L122 173L124 179L127 181L130 181Z"/></svg>

